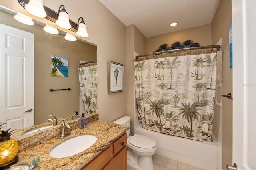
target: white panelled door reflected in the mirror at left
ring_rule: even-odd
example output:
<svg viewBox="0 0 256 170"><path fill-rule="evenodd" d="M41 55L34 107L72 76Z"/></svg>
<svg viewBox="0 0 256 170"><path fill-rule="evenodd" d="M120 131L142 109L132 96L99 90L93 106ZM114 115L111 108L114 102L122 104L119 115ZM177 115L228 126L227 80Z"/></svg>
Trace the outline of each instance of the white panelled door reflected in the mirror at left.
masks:
<svg viewBox="0 0 256 170"><path fill-rule="evenodd" d="M34 125L34 34L0 25L0 122ZM27 112L25 112L27 111Z"/></svg>

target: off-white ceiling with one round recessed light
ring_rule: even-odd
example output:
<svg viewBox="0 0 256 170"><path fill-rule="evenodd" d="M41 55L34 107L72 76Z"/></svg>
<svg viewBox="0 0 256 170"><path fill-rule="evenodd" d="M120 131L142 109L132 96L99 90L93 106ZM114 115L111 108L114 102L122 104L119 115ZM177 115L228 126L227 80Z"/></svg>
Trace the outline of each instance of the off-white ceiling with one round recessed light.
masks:
<svg viewBox="0 0 256 170"><path fill-rule="evenodd" d="M220 0L100 0L125 26L148 38L210 24ZM178 22L177 26L169 26Z"/></svg>

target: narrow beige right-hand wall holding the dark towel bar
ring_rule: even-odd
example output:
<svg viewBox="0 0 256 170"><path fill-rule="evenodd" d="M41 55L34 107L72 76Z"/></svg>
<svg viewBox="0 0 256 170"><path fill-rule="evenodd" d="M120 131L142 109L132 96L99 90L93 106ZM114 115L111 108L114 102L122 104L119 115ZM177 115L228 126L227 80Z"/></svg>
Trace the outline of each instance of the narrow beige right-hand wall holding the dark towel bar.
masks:
<svg viewBox="0 0 256 170"><path fill-rule="evenodd" d="M223 39L222 57L222 91L232 93L232 69L229 68L229 35L228 27L232 23L232 7L230 0L221 0L212 20L212 44ZM232 164L232 100L222 99L222 169Z"/></svg>

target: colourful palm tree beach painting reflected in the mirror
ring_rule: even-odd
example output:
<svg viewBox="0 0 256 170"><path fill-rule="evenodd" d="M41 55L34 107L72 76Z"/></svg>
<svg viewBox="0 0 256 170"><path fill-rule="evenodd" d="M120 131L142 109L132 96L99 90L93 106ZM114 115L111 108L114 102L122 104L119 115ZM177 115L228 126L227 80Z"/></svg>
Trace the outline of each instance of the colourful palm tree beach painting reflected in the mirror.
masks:
<svg viewBox="0 0 256 170"><path fill-rule="evenodd" d="M52 55L52 77L68 77L68 58Z"/></svg>

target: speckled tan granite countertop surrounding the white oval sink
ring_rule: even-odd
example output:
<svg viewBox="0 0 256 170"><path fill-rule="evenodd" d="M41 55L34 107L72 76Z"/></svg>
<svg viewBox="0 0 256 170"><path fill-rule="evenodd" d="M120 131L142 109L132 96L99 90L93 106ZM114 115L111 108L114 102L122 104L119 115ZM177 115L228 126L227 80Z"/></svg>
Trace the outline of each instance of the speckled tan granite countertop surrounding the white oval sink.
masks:
<svg viewBox="0 0 256 170"><path fill-rule="evenodd" d="M18 163L30 163L35 156L40 156L39 162L33 168L35 170L79 170L106 149L112 142L122 136L122 134L126 133L128 129L128 126L96 120L89 123L88 127L84 129L75 128L71 130L70 135L61 140L52 138L41 144L20 150L18 152ZM97 136L96 142L90 148L66 158L53 158L50 156L49 152L58 144L84 134Z"/></svg>

